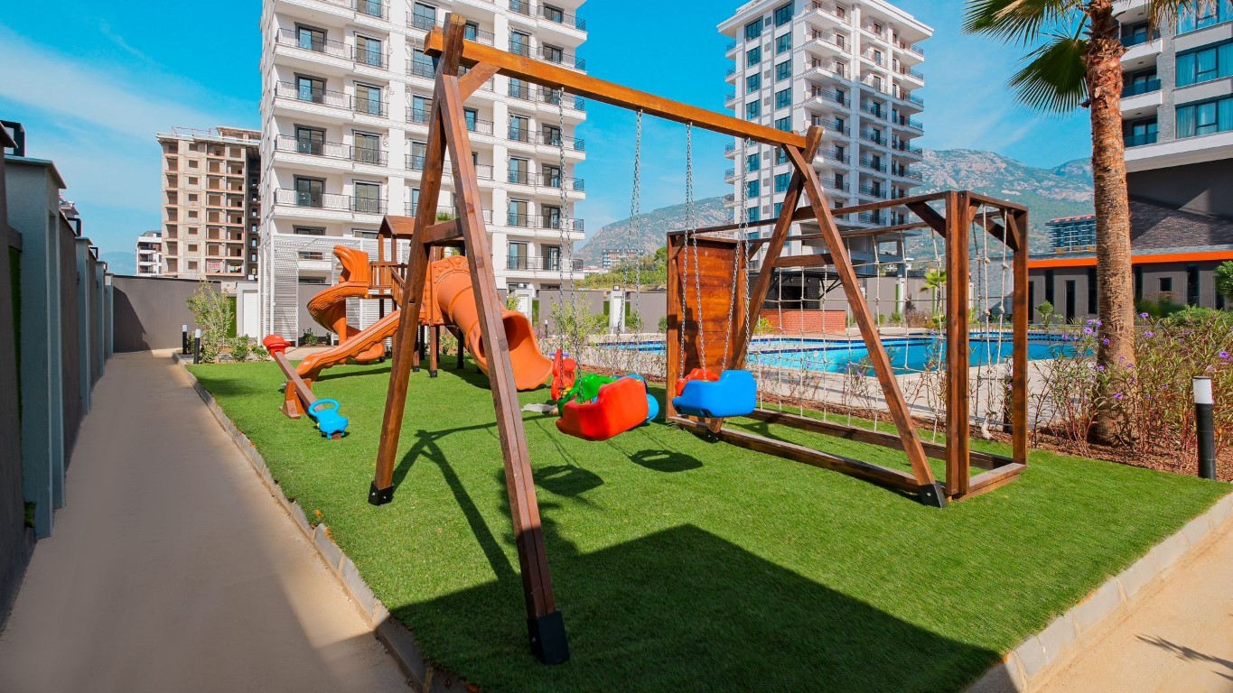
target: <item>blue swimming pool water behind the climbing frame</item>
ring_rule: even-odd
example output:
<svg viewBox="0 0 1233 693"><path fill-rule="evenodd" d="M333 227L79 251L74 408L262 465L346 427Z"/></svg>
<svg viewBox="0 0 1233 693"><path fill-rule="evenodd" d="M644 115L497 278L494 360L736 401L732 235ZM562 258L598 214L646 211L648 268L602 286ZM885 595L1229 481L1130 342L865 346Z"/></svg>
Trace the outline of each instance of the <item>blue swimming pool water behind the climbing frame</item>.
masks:
<svg viewBox="0 0 1233 693"><path fill-rule="evenodd" d="M937 369L946 358L944 340L941 336L921 335L909 337L883 337L890 363L896 373ZM970 341L972 366L1004 363L1011 356L1010 335L974 335ZM647 353L663 353L663 343L623 343L619 348L631 348ZM1074 347L1062 338L1033 335L1028 338L1027 358L1057 358L1074 353ZM825 373L843 373L850 364L861 366L869 356L864 342L856 340L817 338L757 338L750 345L750 363L774 368L792 368ZM867 363L864 364L867 366Z"/></svg>

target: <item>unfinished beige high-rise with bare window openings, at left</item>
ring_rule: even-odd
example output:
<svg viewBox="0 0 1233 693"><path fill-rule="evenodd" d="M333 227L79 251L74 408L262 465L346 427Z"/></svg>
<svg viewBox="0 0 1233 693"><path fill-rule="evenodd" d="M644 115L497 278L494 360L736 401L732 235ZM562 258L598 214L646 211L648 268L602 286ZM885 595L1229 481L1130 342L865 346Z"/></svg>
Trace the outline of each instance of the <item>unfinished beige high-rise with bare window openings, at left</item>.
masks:
<svg viewBox="0 0 1233 693"><path fill-rule="evenodd" d="M256 279L261 133L217 127L159 133L163 268L169 277Z"/></svg>

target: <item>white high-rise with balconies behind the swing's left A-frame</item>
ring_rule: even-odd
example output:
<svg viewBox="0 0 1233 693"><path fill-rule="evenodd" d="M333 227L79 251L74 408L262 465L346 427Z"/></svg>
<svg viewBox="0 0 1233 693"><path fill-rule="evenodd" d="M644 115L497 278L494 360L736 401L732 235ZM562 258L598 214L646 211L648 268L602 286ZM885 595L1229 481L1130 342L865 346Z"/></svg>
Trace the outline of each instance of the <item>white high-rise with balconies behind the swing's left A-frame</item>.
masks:
<svg viewBox="0 0 1233 693"><path fill-rule="evenodd" d="M466 37L571 69L586 25L582 0L266 0L261 16L264 326L298 334L297 284L328 283L334 245L374 251L385 214L414 215L434 87L424 38L448 12ZM556 288L584 198L578 126L586 103L497 76L466 103L497 286ZM446 176L439 214L455 213ZM371 302L369 302L371 303ZM359 316L360 324L372 316Z"/></svg>

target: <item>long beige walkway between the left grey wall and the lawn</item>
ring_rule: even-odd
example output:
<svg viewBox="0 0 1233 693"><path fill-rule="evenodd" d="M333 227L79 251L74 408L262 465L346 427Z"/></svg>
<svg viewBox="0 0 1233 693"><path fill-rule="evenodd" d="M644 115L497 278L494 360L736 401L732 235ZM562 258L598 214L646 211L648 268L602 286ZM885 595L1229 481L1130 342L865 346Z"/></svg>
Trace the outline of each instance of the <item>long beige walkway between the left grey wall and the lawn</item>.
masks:
<svg viewBox="0 0 1233 693"><path fill-rule="evenodd" d="M186 374L133 353L95 390L0 634L0 691L408 688Z"/></svg>

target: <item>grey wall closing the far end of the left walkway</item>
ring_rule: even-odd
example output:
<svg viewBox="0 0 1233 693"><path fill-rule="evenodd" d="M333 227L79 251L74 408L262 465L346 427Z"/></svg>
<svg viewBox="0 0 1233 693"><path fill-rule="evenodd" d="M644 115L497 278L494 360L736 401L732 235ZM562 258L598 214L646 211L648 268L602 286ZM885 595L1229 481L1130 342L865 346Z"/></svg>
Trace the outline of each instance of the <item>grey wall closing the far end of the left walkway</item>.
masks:
<svg viewBox="0 0 1233 693"><path fill-rule="evenodd" d="M195 330L189 297L197 279L168 277L112 278L115 351L148 351L180 347L180 325ZM212 282L218 288L217 282Z"/></svg>

